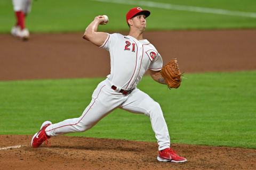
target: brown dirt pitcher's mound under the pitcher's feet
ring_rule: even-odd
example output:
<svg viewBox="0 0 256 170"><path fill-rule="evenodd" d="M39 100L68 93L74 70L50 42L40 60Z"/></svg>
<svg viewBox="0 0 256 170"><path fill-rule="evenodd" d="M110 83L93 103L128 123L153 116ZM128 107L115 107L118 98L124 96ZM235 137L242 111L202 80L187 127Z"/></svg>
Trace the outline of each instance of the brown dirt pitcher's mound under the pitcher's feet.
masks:
<svg viewBox="0 0 256 170"><path fill-rule="evenodd" d="M256 169L253 149L173 144L188 161L163 163L154 142L59 136L32 148L31 138L0 135L1 169Z"/></svg>

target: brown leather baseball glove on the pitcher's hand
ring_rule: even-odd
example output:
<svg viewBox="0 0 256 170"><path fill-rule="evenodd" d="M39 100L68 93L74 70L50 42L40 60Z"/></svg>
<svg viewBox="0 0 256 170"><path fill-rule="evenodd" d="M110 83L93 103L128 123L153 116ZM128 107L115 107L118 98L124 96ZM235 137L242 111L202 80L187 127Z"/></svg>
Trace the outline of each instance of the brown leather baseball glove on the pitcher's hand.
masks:
<svg viewBox="0 0 256 170"><path fill-rule="evenodd" d="M182 75L176 58L173 58L168 64L163 66L161 74L169 89L180 87Z"/></svg>

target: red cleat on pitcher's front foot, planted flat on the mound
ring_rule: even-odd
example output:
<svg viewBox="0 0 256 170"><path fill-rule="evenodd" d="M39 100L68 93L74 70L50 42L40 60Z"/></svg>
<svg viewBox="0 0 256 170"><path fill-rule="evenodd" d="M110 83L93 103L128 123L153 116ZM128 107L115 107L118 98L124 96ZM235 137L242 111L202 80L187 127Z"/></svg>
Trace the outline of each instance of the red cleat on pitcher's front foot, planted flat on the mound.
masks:
<svg viewBox="0 0 256 170"><path fill-rule="evenodd" d="M183 163L187 161L186 158L180 157L179 155L177 155L177 152L170 148L160 150L159 155L157 156L157 160L174 163Z"/></svg>

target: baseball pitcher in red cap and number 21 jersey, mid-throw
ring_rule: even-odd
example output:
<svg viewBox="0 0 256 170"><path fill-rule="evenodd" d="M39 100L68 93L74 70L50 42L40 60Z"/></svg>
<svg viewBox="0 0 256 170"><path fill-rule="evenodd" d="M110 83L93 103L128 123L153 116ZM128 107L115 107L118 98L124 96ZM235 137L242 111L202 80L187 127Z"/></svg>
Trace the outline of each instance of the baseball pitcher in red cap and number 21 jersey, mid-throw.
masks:
<svg viewBox="0 0 256 170"><path fill-rule="evenodd" d="M130 28L127 36L98 32L98 25L107 24L108 18L101 15L95 17L85 29L83 38L109 51L111 72L107 79L98 84L91 103L80 117L55 124L44 122L31 140L32 147L39 147L44 141L47 145L51 136L89 130L111 111L121 108L149 116L159 145L157 160L176 163L187 161L170 149L169 132L159 104L137 88L147 70L150 70L155 81L167 84L169 88L178 88L181 83L177 60L173 59L163 67L161 55L142 37L149 15L149 11L140 7L132 8L126 14L126 22Z"/></svg>

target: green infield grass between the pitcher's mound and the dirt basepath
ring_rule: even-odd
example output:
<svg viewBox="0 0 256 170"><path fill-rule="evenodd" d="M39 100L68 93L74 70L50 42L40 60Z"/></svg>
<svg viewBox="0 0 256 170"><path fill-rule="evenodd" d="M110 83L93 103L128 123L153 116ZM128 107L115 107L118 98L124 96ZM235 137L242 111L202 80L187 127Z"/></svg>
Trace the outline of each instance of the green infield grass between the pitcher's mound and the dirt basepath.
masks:
<svg viewBox="0 0 256 170"><path fill-rule="evenodd" d="M161 105L172 143L256 149L256 71L186 74L179 89L144 77L138 88ZM79 117L104 78L0 82L0 134L34 134L45 120ZM69 135L156 142L149 117L121 109Z"/></svg>

